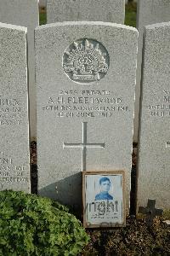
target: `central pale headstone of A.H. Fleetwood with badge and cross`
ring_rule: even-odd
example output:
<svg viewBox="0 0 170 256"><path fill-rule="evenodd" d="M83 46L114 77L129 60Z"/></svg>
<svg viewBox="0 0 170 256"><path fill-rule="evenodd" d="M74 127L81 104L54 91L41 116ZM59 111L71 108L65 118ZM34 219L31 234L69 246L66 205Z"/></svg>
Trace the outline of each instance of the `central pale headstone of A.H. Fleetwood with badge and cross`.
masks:
<svg viewBox="0 0 170 256"><path fill-rule="evenodd" d="M82 171L125 170L128 208L137 30L79 21L35 36L39 194L80 204Z"/></svg>

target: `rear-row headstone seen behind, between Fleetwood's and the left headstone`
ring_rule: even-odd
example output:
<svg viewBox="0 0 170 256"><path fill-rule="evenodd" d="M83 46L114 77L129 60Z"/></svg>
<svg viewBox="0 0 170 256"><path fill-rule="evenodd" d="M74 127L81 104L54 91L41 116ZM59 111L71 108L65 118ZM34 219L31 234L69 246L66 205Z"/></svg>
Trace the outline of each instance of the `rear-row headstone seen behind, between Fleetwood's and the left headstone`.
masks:
<svg viewBox="0 0 170 256"><path fill-rule="evenodd" d="M0 0L0 22L26 26L28 30L28 67L31 137L36 137L36 86L34 29L39 24L39 0Z"/></svg>

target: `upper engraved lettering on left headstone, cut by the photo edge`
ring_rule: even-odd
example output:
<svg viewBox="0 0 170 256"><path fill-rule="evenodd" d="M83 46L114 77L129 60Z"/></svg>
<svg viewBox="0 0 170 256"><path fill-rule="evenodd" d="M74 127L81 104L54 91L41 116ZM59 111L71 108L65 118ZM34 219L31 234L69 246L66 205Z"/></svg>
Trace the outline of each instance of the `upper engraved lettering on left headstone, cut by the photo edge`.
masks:
<svg viewBox="0 0 170 256"><path fill-rule="evenodd" d="M0 96L0 125L21 125L22 108L14 98Z"/></svg>

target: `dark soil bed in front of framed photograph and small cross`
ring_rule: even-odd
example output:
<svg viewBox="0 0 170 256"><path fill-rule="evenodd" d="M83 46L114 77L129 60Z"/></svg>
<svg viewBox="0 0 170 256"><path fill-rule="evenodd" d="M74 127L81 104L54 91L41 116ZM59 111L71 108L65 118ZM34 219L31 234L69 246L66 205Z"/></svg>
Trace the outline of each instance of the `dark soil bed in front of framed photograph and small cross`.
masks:
<svg viewBox="0 0 170 256"><path fill-rule="evenodd" d="M155 218L148 227L143 218L127 218L126 228L88 230L91 241L82 255L170 255L170 226Z"/></svg>

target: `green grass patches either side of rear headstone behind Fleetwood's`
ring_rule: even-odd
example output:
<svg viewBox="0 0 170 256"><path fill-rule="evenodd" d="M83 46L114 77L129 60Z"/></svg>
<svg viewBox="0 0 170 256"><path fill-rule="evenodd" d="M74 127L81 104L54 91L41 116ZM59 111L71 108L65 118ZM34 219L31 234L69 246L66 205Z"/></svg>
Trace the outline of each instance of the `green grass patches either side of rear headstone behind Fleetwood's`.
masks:
<svg viewBox="0 0 170 256"><path fill-rule="evenodd" d="M125 25L136 27L136 3L128 3L126 5ZM47 23L45 9L40 11L40 25Z"/></svg>

